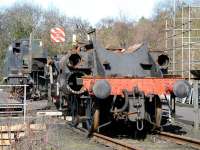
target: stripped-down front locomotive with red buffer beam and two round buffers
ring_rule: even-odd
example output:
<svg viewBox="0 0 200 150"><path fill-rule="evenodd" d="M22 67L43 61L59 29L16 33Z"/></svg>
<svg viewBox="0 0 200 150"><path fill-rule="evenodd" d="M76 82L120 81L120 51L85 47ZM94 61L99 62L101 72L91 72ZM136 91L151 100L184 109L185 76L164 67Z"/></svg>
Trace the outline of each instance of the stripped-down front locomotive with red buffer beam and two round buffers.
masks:
<svg viewBox="0 0 200 150"><path fill-rule="evenodd" d="M146 44L129 50L108 50L91 40L77 44L59 62L60 105L74 125L83 122L90 131L118 120L135 122L138 130L146 121L160 127L162 98L190 92L185 80L164 77L168 61L164 54L155 61Z"/></svg>

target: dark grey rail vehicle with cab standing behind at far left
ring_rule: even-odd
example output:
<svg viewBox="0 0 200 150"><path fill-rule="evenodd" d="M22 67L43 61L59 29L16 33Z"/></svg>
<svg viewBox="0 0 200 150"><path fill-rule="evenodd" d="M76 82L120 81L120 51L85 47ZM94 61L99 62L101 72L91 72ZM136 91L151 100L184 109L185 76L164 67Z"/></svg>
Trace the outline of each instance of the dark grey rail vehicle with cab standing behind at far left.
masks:
<svg viewBox="0 0 200 150"><path fill-rule="evenodd" d="M41 40L17 40L6 51L4 80L11 85L28 85L27 98L38 99L47 89L46 63L47 51L43 49ZM23 88L13 87L13 90L18 96L24 94Z"/></svg>

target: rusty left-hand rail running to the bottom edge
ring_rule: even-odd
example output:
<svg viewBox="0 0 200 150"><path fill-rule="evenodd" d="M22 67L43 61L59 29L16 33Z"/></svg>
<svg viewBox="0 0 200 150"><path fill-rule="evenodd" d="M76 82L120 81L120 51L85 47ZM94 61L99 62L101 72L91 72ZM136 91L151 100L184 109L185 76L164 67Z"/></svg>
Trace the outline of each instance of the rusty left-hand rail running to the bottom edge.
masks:
<svg viewBox="0 0 200 150"><path fill-rule="evenodd" d="M99 133L93 133L93 138L101 143L101 144L104 144L106 146L109 146L113 149L120 149L120 150L141 150L141 148L138 148L134 145L130 145L130 144L127 144L127 143L123 143L119 140L116 140L116 139L113 139L113 138L110 138L108 136L105 136L105 135L102 135L102 134L99 134Z"/></svg>

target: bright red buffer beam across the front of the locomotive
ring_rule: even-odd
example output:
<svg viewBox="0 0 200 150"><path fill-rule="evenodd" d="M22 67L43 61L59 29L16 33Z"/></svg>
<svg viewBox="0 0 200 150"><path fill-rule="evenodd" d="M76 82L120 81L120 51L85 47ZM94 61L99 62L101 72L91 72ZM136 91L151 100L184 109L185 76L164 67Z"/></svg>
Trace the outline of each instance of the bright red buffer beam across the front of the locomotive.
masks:
<svg viewBox="0 0 200 150"><path fill-rule="evenodd" d="M138 87L142 90L145 95L148 94L167 94L172 92L174 83L179 79L168 79L168 78L104 78L110 86L111 95L122 95L122 90L127 89L132 91L134 87ZM92 85L101 78L83 78L83 85L91 91Z"/></svg>

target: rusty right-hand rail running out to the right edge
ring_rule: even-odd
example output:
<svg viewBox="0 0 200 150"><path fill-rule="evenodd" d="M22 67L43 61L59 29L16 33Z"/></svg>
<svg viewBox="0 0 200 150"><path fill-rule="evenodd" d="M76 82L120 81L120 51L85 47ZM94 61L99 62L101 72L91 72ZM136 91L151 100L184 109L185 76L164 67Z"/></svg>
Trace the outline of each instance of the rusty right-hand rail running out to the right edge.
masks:
<svg viewBox="0 0 200 150"><path fill-rule="evenodd" d="M164 139L164 140L167 140L179 145L188 145L192 148L200 149L200 140L198 139L184 137L184 136L180 136L180 135L176 135L176 134L172 134L168 132L158 132L158 135L159 137L161 137L161 139Z"/></svg>

